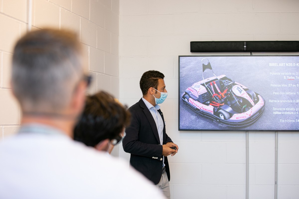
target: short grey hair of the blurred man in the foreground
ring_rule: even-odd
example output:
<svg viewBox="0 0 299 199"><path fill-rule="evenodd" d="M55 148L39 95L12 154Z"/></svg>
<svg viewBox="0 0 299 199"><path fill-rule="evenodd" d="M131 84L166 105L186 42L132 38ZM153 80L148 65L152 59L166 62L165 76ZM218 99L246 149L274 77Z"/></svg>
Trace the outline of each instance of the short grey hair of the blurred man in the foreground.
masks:
<svg viewBox="0 0 299 199"><path fill-rule="evenodd" d="M81 44L71 31L36 30L15 45L12 89L23 111L59 112L82 77Z"/></svg>

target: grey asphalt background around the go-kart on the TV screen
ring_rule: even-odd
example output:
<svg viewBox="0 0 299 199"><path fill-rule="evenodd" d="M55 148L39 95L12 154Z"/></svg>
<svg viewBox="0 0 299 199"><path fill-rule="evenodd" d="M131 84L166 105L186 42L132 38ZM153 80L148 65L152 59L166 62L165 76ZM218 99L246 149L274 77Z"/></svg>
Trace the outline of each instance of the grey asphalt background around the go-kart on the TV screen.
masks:
<svg viewBox="0 0 299 199"><path fill-rule="evenodd" d="M202 77L202 58L209 59L215 75L226 75L235 82L260 94L266 102L265 110L261 117L251 125L228 127L196 113L179 97L179 127L181 130L299 130L299 122L296 121L296 119L299 120L299 110L296 110L299 109L298 56L181 56L179 59L180 96L192 84L203 78L214 76L211 70L206 70L203 74L204 77ZM293 65L287 66L290 63ZM291 75L286 75L286 72L291 73ZM282 84L286 86L282 87ZM280 85L280 87L274 85ZM288 92L295 92L296 94L290 95ZM271 100L292 100L293 102L273 102ZM295 110L276 110L280 108L294 108ZM274 114L274 112L278 114ZM295 114L282 114L282 112ZM290 122L289 120L293 121Z"/></svg>

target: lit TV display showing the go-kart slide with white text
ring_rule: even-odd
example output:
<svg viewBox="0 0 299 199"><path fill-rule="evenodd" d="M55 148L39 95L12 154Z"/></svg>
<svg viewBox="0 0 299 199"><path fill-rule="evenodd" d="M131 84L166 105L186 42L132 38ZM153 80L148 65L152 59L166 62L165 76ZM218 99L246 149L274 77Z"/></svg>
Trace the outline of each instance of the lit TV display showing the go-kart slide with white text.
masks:
<svg viewBox="0 0 299 199"><path fill-rule="evenodd" d="M179 130L298 131L299 56L179 56Z"/></svg>

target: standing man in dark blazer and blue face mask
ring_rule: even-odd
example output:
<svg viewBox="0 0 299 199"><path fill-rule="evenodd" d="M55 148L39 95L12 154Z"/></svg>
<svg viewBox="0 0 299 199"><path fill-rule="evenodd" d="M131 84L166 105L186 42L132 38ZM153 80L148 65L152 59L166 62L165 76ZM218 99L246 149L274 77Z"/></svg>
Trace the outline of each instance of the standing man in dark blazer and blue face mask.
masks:
<svg viewBox="0 0 299 199"><path fill-rule="evenodd" d="M132 119L126 128L123 149L131 153L130 164L170 198L167 156L175 155L179 147L166 134L163 113L158 105L167 96L164 75L155 70L144 72L140 88L143 97L129 108Z"/></svg>

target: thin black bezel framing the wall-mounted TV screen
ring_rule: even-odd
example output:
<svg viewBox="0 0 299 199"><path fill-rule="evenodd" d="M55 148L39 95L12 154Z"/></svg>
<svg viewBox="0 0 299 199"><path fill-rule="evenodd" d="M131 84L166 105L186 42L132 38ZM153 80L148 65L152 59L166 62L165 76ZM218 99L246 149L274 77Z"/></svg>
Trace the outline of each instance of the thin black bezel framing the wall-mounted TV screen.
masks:
<svg viewBox="0 0 299 199"><path fill-rule="evenodd" d="M180 94L180 57L286 57L286 56L297 56L299 55L179 55L178 56L178 65L179 65L179 86L178 86L178 130L179 131L217 131L217 132L298 132L298 130L260 130L260 129L180 129L180 100L181 100L181 94Z"/></svg>

